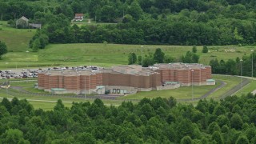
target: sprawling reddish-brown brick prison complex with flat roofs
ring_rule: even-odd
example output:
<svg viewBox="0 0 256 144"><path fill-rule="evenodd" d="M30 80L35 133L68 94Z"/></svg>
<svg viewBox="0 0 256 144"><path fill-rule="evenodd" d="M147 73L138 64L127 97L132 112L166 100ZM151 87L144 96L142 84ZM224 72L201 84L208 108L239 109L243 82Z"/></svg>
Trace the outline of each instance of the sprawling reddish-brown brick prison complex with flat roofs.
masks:
<svg viewBox="0 0 256 144"><path fill-rule="evenodd" d="M48 70L38 74L38 89L57 94L132 94L214 84L211 67L197 63L155 64L149 67L128 65L97 70L89 67L83 70Z"/></svg>

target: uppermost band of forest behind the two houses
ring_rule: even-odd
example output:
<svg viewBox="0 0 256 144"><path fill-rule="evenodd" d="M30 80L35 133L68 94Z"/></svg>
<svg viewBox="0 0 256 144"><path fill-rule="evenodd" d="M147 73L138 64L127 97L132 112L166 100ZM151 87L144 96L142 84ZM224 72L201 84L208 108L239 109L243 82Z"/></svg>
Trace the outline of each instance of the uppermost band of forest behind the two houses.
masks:
<svg viewBox="0 0 256 144"><path fill-rule="evenodd" d="M74 18L76 13L82 13L98 22L120 22L120 18L124 15L130 15L134 20L158 19L168 17L170 14L192 11L193 16L190 17L206 22L219 16L237 19L254 18L255 7L254 0L48 0L46 2L1 0L0 18L10 20L20 18L22 15L34 18L34 14L40 11L64 14L70 19Z"/></svg>

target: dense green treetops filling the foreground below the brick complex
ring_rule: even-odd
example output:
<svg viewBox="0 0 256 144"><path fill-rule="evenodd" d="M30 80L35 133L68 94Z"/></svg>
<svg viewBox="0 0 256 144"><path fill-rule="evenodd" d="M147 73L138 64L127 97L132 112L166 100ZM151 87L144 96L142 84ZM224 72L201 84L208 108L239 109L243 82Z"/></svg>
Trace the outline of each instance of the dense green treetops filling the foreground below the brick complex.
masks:
<svg viewBox="0 0 256 144"><path fill-rule="evenodd" d="M58 100L54 110L34 110L25 99L0 103L1 143L255 143L255 95L200 100L143 98L105 106Z"/></svg>

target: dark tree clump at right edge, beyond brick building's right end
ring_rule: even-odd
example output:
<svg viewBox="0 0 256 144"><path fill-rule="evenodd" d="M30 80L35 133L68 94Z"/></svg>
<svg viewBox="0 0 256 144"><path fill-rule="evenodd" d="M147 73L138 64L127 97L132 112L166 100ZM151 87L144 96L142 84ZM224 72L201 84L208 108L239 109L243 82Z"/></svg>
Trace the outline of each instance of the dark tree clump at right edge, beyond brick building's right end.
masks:
<svg viewBox="0 0 256 144"><path fill-rule="evenodd" d="M242 58L218 60L210 60L209 65L211 66L214 74L231 74L231 75L243 75L243 76L256 76L256 53L253 52L249 56L243 56ZM253 72L253 73L252 73Z"/></svg>

